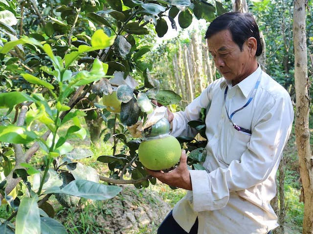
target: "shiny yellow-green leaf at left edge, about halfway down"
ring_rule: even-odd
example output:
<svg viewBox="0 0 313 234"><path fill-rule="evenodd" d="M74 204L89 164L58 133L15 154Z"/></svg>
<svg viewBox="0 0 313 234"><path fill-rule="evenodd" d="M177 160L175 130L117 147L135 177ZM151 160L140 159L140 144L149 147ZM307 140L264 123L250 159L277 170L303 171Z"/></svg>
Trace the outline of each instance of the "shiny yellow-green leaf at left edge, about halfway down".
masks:
<svg viewBox="0 0 313 234"><path fill-rule="evenodd" d="M13 144L27 144L37 138L36 133L14 125L0 126L0 141Z"/></svg>

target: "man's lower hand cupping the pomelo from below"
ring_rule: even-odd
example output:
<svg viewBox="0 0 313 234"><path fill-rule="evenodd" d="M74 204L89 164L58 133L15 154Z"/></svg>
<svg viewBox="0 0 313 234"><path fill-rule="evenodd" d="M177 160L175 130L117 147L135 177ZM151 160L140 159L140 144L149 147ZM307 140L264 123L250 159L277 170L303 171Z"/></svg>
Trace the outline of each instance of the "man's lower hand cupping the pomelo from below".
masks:
<svg viewBox="0 0 313 234"><path fill-rule="evenodd" d="M159 181L165 184L179 187L185 190L192 190L190 173L187 168L187 155L185 150L182 150L179 166L176 167L174 170L171 170L169 172L164 172L162 170L145 170L148 172L148 174L156 177Z"/></svg>

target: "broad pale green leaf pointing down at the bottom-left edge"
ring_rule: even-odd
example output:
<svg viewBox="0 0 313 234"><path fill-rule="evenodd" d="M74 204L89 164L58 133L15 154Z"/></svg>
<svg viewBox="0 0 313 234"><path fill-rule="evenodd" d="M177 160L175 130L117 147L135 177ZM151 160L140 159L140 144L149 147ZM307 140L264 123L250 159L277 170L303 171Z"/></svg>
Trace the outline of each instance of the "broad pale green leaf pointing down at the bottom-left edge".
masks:
<svg viewBox="0 0 313 234"><path fill-rule="evenodd" d="M23 197L16 217L16 234L40 234L38 197Z"/></svg>

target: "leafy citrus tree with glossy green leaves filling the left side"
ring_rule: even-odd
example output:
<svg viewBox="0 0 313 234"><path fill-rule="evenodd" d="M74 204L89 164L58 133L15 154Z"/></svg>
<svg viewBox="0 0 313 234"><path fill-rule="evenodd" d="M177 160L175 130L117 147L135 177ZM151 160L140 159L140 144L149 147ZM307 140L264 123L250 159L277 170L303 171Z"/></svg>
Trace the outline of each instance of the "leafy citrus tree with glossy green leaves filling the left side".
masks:
<svg viewBox="0 0 313 234"><path fill-rule="evenodd" d="M70 207L79 197L104 200L121 190L99 180L136 188L155 184L138 160L141 140L133 137L138 137L134 126L147 118L151 99L167 106L180 97L160 90L150 75L153 64L144 61L150 51L145 38L153 39L154 31L165 35L165 17L172 27L177 18L186 28L193 15L211 21L223 12L220 1L205 0L1 0L0 200L12 215L0 220L0 232L67 233L49 217L53 208L47 201L52 194ZM106 102L109 95L116 97ZM73 149L67 142L73 135L86 137L81 117L90 135L97 135L93 141L103 135L104 141L113 138L113 154L98 158L108 164L110 178L79 162L92 155L89 149ZM36 128L37 123L44 128ZM203 121L190 125L205 128ZM69 127L62 133L64 126ZM124 145L119 152L118 141ZM204 152L198 148L204 143L179 141L195 149L189 163L199 169L196 163ZM43 156L35 167L29 162L38 151ZM131 180L123 179L127 172ZM14 217L16 226L10 222Z"/></svg>

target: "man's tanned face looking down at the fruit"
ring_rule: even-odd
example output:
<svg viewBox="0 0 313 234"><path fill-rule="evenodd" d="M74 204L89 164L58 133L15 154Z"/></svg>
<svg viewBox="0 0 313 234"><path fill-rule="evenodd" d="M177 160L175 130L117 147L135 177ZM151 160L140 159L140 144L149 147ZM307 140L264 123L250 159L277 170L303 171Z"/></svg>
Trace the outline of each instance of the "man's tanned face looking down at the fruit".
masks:
<svg viewBox="0 0 313 234"><path fill-rule="evenodd" d="M232 82L232 85L241 82L256 69L255 66L257 67L255 50L253 54L250 39L243 44L242 51L232 40L229 30L220 31L207 41L215 66L226 80Z"/></svg>

